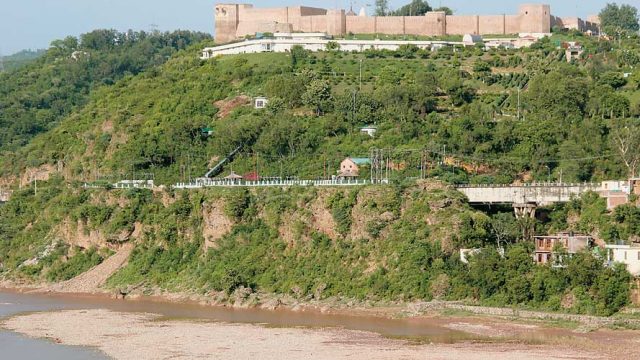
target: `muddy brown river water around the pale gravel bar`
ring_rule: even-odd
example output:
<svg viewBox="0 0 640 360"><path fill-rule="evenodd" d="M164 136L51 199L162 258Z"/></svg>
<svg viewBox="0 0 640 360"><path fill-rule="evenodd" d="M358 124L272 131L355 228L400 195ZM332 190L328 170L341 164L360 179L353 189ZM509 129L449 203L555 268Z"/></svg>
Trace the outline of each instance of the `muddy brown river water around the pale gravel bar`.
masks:
<svg viewBox="0 0 640 360"><path fill-rule="evenodd" d="M416 338L452 343L472 340L471 335L448 329L438 319L384 319L372 316L327 315L290 310L233 309L227 307L176 304L152 300L116 300L99 296L21 294L0 290L0 319L15 314L65 309L109 309L146 312L166 319L198 319L228 323L254 323L276 327L339 327L370 331L388 337ZM31 339L0 330L0 358L4 359L107 359L98 350L63 346L53 341Z"/></svg>

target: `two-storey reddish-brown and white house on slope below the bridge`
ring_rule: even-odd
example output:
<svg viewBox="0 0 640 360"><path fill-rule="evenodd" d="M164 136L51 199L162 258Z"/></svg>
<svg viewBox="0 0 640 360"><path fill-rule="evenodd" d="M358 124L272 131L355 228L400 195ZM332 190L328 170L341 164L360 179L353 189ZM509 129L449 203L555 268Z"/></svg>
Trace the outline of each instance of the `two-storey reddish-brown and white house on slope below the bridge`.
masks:
<svg viewBox="0 0 640 360"><path fill-rule="evenodd" d="M569 256L588 249L593 244L593 238L589 235L577 235L573 232L563 232L550 236L533 237L536 250L534 261L538 264L546 264L562 259L556 254L557 249L562 249Z"/></svg>

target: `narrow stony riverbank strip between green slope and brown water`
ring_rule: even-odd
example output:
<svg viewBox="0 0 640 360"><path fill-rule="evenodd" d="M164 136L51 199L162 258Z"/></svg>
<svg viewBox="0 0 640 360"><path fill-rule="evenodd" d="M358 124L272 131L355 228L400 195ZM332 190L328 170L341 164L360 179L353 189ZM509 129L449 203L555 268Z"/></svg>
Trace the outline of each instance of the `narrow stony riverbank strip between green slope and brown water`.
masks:
<svg viewBox="0 0 640 360"><path fill-rule="evenodd" d="M640 317L637 311L629 316L619 314L616 317L576 315L525 310L518 308L497 308L468 305L460 301L431 302L358 302L353 299L328 298L323 300L296 299L290 295L256 293L240 288L233 294L225 293L174 293L155 290L127 289L106 290L98 286L67 288L65 283L57 284L16 284L7 280L0 281L0 290L35 294L68 294L71 296L122 299L127 301L153 301L159 303L194 304L205 307L228 307L236 309L287 310L293 312L313 312L331 315L368 316L387 319L433 318L456 314L462 317L481 317L500 319L509 322L535 323L543 326L579 328L581 331L593 331L600 328L640 329ZM75 291L74 291L75 290ZM634 309L637 310L637 309Z"/></svg>

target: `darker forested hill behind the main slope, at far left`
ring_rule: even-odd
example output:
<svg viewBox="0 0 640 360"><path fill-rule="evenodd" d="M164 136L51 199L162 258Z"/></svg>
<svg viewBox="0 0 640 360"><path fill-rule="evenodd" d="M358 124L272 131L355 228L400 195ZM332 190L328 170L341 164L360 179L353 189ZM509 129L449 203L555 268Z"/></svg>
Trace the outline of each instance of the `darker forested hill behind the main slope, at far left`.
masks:
<svg viewBox="0 0 640 360"><path fill-rule="evenodd" d="M0 75L0 151L16 150L83 106L100 85L112 85L163 64L173 53L208 38L173 33L96 30L56 40L45 54ZM29 56L23 53L22 57Z"/></svg>

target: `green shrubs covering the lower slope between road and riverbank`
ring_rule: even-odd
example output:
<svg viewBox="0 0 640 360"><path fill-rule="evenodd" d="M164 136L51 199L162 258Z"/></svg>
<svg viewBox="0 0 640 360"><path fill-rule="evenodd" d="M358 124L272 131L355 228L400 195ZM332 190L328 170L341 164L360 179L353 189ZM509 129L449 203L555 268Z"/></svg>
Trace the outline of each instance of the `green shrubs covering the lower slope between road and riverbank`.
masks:
<svg viewBox="0 0 640 360"><path fill-rule="evenodd" d="M630 276L624 267L606 268L603 259L590 252L566 258L564 268L536 266L530 245L516 242L518 228L512 215L509 219L505 216L508 213L499 212L488 217L443 187L427 192L409 186L360 191L264 189L152 194L60 191L57 185L55 181L43 183L38 196L19 193L0 207L2 233L7 234L0 242L6 274L60 281L100 263L107 253L58 246L37 264L20 265L38 258L41 249L59 239L55 229L64 219L77 219L85 227L104 233L118 233L133 222L147 229L137 239L129 265L109 280L114 287L142 285L228 294L248 288L301 299L438 298L600 315L617 312L629 300ZM167 196L173 200L164 202ZM86 205L89 199L100 202L113 197L121 199L117 201L120 205L104 212ZM334 218L335 236L317 231L308 218L316 215L308 213L307 204L321 197L327 201L318 206ZM203 209L220 202L235 225L216 241L215 247L206 250ZM48 216L19 210L33 206ZM632 209L636 208L620 208L611 216L601 216L601 200L587 196L551 209L551 220L538 226L566 228L563 222L578 218L569 226L578 230L596 218L600 229L612 227L616 230L610 233L628 236L640 232L640 214ZM419 220L425 217L430 219L429 224ZM515 228L497 229L493 218L499 220L496 224L513 223ZM299 220L283 223L284 219ZM366 225L358 225L363 222ZM375 231L371 224L376 224ZM286 240L283 231L290 232L294 240ZM42 233L48 235L36 240ZM496 245L506 249L504 256L496 251ZM467 265L460 261L457 249L468 247L483 250Z"/></svg>

